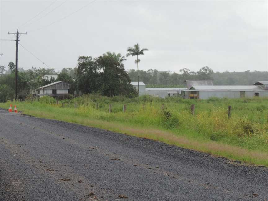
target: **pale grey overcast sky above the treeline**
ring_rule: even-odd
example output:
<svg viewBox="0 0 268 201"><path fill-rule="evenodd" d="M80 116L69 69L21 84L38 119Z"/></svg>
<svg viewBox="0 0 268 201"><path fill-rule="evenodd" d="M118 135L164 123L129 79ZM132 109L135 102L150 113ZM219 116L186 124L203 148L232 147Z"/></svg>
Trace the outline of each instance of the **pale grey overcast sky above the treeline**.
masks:
<svg viewBox="0 0 268 201"><path fill-rule="evenodd" d="M268 1L0 1L0 65L74 68L78 56L148 48L139 69L268 71ZM31 53L34 55L32 55ZM37 59L37 58L39 59ZM136 69L134 57L125 69ZM46 65L44 65L42 62Z"/></svg>

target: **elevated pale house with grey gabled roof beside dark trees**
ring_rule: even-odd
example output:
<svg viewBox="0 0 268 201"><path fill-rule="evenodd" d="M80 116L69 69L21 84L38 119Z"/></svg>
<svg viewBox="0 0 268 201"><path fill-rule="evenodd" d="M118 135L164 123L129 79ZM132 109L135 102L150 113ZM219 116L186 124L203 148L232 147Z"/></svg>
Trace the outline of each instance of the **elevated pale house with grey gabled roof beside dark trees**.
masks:
<svg viewBox="0 0 268 201"><path fill-rule="evenodd" d="M36 94L37 96L52 96L63 99L69 97L69 89L70 84L63 81L58 81L39 87L36 90Z"/></svg>

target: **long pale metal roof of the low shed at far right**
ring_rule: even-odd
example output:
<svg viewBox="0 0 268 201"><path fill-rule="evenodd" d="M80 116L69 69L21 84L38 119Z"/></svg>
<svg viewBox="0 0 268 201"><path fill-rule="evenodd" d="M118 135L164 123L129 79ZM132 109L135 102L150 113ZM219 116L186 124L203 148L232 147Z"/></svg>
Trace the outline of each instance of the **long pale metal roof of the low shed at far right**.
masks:
<svg viewBox="0 0 268 201"><path fill-rule="evenodd" d="M258 91L262 90L256 85L212 85L212 86L192 86L190 90L236 90L236 91Z"/></svg>

